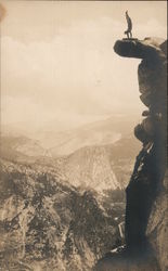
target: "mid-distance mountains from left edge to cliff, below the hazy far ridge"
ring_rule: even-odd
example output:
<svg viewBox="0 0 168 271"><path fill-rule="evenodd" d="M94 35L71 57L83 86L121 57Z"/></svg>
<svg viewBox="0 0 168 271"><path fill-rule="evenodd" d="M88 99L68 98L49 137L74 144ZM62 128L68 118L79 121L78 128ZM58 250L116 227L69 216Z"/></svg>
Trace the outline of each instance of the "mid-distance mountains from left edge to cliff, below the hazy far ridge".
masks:
<svg viewBox="0 0 168 271"><path fill-rule="evenodd" d="M76 188L102 192L126 188L139 147L133 137L125 136L114 144L86 146L54 158L35 140L3 136L0 153L8 160L34 165L37 171L46 169Z"/></svg>

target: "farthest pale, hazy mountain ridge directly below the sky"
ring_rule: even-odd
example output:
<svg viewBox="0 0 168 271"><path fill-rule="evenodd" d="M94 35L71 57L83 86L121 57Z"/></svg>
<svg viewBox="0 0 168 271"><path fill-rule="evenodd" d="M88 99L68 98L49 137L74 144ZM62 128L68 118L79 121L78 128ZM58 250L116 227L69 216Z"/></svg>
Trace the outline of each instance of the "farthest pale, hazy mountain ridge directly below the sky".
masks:
<svg viewBox="0 0 168 271"><path fill-rule="evenodd" d="M134 125L135 120L132 116L114 116L70 130L57 131L53 124L51 130L26 133L21 128L17 131L14 126L2 126L1 133L5 138L18 139L21 137L21 142L23 141L22 138L25 138L25 154L29 152L28 155L38 156L39 153L42 155L47 150L47 156L57 157L69 155L83 146L113 144L130 133ZM33 144L30 139L34 140L35 145L33 149L36 149L37 155L33 149L30 150L30 144ZM29 149L26 149L26 144L29 144ZM41 147L41 150L37 149L37 146ZM24 151L23 143L22 150Z"/></svg>

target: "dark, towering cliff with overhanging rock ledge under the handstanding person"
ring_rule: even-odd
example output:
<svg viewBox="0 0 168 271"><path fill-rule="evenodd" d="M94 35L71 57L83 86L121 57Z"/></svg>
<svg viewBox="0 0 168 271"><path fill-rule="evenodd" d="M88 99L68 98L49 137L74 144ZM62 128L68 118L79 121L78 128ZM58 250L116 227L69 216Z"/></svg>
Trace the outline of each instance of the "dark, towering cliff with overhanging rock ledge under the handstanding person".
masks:
<svg viewBox="0 0 168 271"><path fill-rule="evenodd" d="M102 259L95 270L167 270L167 42L156 38L118 40L124 57L142 59L138 68L140 99L147 111L134 136L142 142L126 189L126 246Z"/></svg>

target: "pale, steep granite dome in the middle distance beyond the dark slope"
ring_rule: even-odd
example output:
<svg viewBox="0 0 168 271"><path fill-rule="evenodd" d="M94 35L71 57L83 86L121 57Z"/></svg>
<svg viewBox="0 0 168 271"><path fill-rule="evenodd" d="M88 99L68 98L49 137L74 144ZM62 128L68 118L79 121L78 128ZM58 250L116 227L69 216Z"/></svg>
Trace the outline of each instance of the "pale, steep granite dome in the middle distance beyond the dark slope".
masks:
<svg viewBox="0 0 168 271"><path fill-rule="evenodd" d="M63 171L75 186L91 188L96 191L121 188L113 171L105 147L83 147L69 155Z"/></svg>

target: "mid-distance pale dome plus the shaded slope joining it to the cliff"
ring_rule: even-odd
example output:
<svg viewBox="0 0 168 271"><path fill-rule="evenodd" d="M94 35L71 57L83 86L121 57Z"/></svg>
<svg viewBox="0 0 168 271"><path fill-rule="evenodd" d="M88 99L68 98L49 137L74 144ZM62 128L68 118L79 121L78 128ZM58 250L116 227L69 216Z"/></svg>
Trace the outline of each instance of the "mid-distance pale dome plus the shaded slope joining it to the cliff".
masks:
<svg viewBox="0 0 168 271"><path fill-rule="evenodd" d="M132 137L125 137L114 144L86 146L64 157L60 171L77 188L100 192L124 189L139 149L140 144Z"/></svg>

